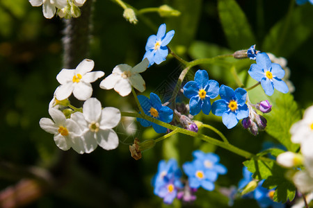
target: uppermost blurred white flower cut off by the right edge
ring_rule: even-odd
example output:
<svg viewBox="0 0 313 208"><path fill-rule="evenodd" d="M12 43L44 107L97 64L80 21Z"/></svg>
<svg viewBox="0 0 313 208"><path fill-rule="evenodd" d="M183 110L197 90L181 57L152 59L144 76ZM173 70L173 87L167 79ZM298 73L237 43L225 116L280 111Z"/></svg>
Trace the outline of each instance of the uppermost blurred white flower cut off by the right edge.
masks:
<svg viewBox="0 0 313 208"><path fill-rule="evenodd" d="M305 110L303 119L294 123L290 129L291 141L303 143L307 139L313 139L313 106Z"/></svg>

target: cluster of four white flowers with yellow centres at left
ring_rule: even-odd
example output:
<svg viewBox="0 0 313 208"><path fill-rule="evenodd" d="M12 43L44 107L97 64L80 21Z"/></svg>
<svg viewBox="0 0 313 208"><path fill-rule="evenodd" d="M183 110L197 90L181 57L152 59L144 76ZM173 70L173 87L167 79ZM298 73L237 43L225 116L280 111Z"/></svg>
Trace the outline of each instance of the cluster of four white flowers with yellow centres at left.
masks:
<svg viewBox="0 0 313 208"><path fill-rule="evenodd" d="M145 71L149 61L144 59L135 67L119 64L110 76L102 80L102 89L115 89L121 96L127 96L131 88L145 91L145 80L139 73ZM104 107L97 98L91 98L90 83L104 76L103 71L92 71L95 63L85 59L76 69L62 69L56 76L61 85L56 88L49 103L52 119L40 119L40 127L54 134L56 146L61 150L73 148L77 153L91 153L97 146L105 150L118 147L119 139L113 130L121 120L121 113L115 107ZM83 103L82 110L70 105L68 98L73 94ZM66 115L66 116L65 116Z"/></svg>

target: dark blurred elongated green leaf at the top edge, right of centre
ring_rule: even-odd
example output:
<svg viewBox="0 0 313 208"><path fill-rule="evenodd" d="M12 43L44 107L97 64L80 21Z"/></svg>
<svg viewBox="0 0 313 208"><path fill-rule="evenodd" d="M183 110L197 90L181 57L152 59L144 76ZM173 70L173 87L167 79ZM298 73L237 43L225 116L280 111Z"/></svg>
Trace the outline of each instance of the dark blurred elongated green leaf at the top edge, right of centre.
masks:
<svg viewBox="0 0 313 208"><path fill-rule="evenodd" d="M234 50L247 49L255 44L246 15L234 0L218 0L218 14L228 44Z"/></svg>

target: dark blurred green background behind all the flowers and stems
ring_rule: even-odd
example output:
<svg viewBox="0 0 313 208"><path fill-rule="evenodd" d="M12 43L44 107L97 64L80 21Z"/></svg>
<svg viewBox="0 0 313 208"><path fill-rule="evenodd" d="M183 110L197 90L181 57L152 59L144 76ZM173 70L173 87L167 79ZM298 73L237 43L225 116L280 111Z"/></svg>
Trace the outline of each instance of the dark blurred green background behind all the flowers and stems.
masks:
<svg viewBox="0 0 313 208"><path fill-rule="evenodd" d="M159 17L157 13L146 14L152 24L145 24L139 18L138 24L133 25L122 17L123 10L114 1L95 1L90 55L86 58L94 60L95 70L104 71L105 76L117 64L134 66L140 62L147 37L156 34L155 28L165 22L167 31L175 30L170 48L186 60L233 53L248 49L252 44L257 44L257 50L287 58L291 70L289 80L296 88L293 93L295 100L300 108L312 105L313 6L310 3L294 5L289 12L290 1L286 0L237 0L250 26L243 21L245 18L237 18L239 13L234 8L233 13L225 11L234 15L234 22L228 22L228 31L223 30L223 24L227 25L227 22L220 18L216 0L129 0L126 3L137 9L168 4L182 14L167 18ZM38 166L54 179L48 186L49 190L42 191L42 197L26 207L168 207L163 205L161 198L154 196L150 184L159 160L175 157L179 164L183 164L191 161L192 151L199 148L215 151L220 155L221 163L228 168L227 175L219 177L217 187L238 183L245 159L205 144L198 138L170 137L145 151L143 158L135 161L129 153L129 145L134 138L142 141L158 135L134 121L130 123L138 130L131 134L122 130L122 125L129 124L121 123L116 129L120 146L115 150L106 151L98 147L93 153L78 155L72 149L65 153L58 149L53 135L40 128L39 120L49 117L48 104L58 87L56 75L63 69L61 39L64 25L58 17L45 19L42 7L32 7L28 1L0 1L1 196L7 187L29 178L30 167ZM239 72L247 71L252 63L249 60L229 62L235 62ZM209 78L218 80L220 85L236 87L230 70L225 69L227 66L223 63L201 67L208 69ZM166 62L150 67L142 74L147 85L144 94L157 92L165 97L163 91L171 91L181 69L182 64L170 56ZM193 68L194 71L196 69L200 67ZM100 90L100 80L93 84L93 96L102 101L102 106L136 111L132 96L122 98L113 90ZM184 97L182 100L187 101ZM197 119L214 125L234 146L251 153L258 153L264 141L275 142L265 132L254 137L241 125L227 130L216 116L200 114ZM203 132L217 137L213 132ZM234 207L248 205L257 207L253 200L234 202ZM182 205L175 201L172 206ZM216 190L201 190L195 204L184 206L227 207L227 198Z"/></svg>

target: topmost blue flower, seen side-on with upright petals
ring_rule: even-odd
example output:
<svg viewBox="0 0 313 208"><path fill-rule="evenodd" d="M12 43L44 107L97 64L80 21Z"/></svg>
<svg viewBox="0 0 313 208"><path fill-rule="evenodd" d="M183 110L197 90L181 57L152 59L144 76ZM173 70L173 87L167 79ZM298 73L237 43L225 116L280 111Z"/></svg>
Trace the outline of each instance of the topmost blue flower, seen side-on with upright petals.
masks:
<svg viewBox="0 0 313 208"><path fill-rule="evenodd" d="M166 56L168 56L168 47L166 45L172 40L174 33L175 31L166 33L166 24L161 24L157 35L150 35L145 45L146 52L143 56L143 59L147 58L149 60L149 67L154 62L160 64L166 60Z"/></svg>

